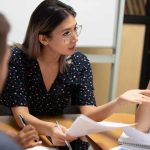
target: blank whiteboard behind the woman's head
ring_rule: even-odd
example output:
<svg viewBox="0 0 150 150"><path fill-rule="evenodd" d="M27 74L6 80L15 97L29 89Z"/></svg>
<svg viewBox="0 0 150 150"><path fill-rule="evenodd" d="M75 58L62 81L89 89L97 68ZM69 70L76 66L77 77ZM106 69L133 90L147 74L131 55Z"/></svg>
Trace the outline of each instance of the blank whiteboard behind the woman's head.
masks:
<svg viewBox="0 0 150 150"><path fill-rule="evenodd" d="M42 0L0 0L0 12L11 24L9 42L22 43L29 18ZM79 47L113 47L118 0L62 0L73 6L83 26Z"/></svg>

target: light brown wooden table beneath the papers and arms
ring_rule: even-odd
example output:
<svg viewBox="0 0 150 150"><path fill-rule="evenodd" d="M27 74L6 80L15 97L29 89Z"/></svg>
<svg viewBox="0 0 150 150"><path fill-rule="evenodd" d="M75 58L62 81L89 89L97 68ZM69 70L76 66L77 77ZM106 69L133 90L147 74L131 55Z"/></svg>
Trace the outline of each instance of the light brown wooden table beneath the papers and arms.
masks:
<svg viewBox="0 0 150 150"><path fill-rule="evenodd" d="M56 120L60 124L70 127L72 120L76 115L64 115L63 117L39 117L45 121L55 122ZM134 115L132 114L113 114L107 121L122 122L122 123L134 123ZM18 131L19 128L12 116L0 116L0 129L1 130L14 130ZM96 133L87 136L88 141L92 144L95 150L109 150L118 145L118 138L122 133L122 129L115 129L108 132ZM52 146L45 136L41 136L43 145Z"/></svg>

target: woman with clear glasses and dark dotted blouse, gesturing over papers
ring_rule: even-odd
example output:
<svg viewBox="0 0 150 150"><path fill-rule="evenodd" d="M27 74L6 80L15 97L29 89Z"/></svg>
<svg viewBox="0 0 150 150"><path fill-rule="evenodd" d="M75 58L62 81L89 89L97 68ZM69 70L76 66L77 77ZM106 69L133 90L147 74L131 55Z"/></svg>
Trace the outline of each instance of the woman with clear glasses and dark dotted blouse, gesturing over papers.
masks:
<svg viewBox="0 0 150 150"><path fill-rule="evenodd" d="M147 91L127 91L116 100L96 107L93 77L87 57L76 50L82 26L78 25L72 7L58 0L44 0L33 11L24 42L15 47L9 63L9 74L1 102L11 107L18 120L22 114L39 134L50 136L60 149L87 150L88 143L65 135L55 123L36 115L62 115L69 105L77 105L81 113L94 120L103 120L126 101L147 101ZM149 92L149 91L148 91ZM139 100L139 101L138 101Z"/></svg>

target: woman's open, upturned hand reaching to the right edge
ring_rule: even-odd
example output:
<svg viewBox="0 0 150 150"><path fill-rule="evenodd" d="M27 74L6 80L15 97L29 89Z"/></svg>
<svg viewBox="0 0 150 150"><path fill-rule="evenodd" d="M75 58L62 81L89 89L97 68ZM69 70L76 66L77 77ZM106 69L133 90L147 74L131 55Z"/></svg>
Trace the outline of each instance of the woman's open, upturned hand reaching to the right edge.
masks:
<svg viewBox="0 0 150 150"><path fill-rule="evenodd" d="M150 103L150 90L129 90L120 95L118 100L129 101L137 104Z"/></svg>

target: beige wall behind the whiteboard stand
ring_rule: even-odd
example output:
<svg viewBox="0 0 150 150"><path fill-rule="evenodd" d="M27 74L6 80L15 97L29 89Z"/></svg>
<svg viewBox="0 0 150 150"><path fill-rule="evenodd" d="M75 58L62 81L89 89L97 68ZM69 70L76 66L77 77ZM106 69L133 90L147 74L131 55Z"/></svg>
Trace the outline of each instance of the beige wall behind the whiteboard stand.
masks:
<svg viewBox="0 0 150 150"><path fill-rule="evenodd" d="M144 32L145 27L143 25L123 25L116 96L128 89L138 88ZM110 49L85 48L80 50L88 53L94 52L94 54L109 54L112 52ZM111 64L92 64L97 105L104 104L108 101L110 67ZM134 110L135 105L128 104L118 112L134 113Z"/></svg>

